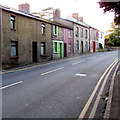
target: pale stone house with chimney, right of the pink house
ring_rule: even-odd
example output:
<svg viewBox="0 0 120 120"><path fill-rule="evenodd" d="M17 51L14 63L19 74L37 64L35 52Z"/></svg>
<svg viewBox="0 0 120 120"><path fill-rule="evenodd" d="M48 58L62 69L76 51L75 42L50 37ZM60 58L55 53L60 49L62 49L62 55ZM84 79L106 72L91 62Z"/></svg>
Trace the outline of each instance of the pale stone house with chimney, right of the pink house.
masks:
<svg viewBox="0 0 120 120"><path fill-rule="evenodd" d="M78 17L78 13L66 19L73 23L74 30L74 54L79 55L89 52L89 25L83 22L83 18Z"/></svg>

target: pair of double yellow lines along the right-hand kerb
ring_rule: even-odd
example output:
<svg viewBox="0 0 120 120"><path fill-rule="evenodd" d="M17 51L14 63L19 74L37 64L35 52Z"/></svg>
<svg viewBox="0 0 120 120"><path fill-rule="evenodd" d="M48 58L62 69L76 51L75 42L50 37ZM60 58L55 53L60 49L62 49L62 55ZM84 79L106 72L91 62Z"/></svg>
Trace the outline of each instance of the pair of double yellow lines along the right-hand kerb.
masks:
<svg viewBox="0 0 120 120"><path fill-rule="evenodd" d="M119 60L120 60L120 59L115 60L115 61L106 69L106 71L103 73L103 75L102 75L101 78L99 79L97 85L95 86L95 88L94 88L91 96L89 97L87 103L85 104L82 112L80 113L78 119L83 119L83 118L85 117L85 114L86 114L86 112L88 111L88 108L89 108L89 106L90 106L90 104L91 104L91 102L92 102L92 100L93 100L93 98L94 98L94 96L95 96L95 93L97 92L97 90L98 90L101 82L102 82L103 79L104 79L104 81L103 81L103 83L102 83L102 86L101 86L101 88L100 88L100 91L99 91L99 93L98 93L98 95L97 95L96 101L95 101L95 103L94 103L94 105L93 105L93 107L92 107L91 113L90 113L90 115L89 115L89 118L94 118L95 112L96 112L96 110L97 110L97 107L98 107L98 104L99 104L99 101L100 101L101 94L102 94L102 92L103 92L103 89L104 89L105 84L106 84L106 81L107 81L107 78L108 78L108 76L110 75L111 71L112 71L113 68L116 66L116 64L118 63Z"/></svg>

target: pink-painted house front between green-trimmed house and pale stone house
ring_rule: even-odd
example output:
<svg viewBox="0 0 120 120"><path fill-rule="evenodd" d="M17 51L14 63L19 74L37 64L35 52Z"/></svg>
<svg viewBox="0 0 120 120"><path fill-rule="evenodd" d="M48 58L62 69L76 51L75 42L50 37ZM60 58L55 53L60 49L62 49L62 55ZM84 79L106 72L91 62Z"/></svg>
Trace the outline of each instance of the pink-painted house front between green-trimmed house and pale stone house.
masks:
<svg viewBox="0 0 120 120"><path fill-rule="evenodd" d="M73 30L63 28L63 40L64 40L64 57L70 57L74 55L74 38Z"/></svg>

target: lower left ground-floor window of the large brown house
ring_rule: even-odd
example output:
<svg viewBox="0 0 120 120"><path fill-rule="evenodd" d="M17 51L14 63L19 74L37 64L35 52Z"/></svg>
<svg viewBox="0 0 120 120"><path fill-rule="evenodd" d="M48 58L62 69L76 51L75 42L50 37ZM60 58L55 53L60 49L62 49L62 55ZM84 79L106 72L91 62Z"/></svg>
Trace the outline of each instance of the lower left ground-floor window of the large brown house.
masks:
<svg viewBox="0 0 120 120"><path fill-rule="evenodd" d="M11 56L18 56L18 42L11 41Z"/></svg>

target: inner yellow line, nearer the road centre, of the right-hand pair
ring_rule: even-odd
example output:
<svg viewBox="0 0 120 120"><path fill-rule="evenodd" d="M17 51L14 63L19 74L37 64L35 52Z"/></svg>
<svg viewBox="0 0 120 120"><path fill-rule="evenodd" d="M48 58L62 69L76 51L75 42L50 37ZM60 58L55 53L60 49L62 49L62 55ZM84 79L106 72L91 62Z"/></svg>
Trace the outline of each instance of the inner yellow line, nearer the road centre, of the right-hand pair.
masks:
<svg viewBox="0 0 120 120"><path fill-rule="evenodd" d="M118 61L118 59L116 59L111 65L109 65L109 67L106 69L106 71L103 73L103 75L102 75L101 78L99 79L99 81L98 81L97 85L95 86L95 88L94 88L91 96L89 97L87 103L85 104L82 112L81 112L80 115L79 115L79 117L78 117L79 119L83 119L83 118L84 118L84 116L85 116L85 114L86 114L86 112L87 112L87 110L88 110L88 108L89 108L89 106L90 106L90 104L91 104L94 96L95 96L95 93L96 93L96 91L98 90L98 87L99 87L100 83L102 82L102 79L104 78L104 76L106 75L106 73L108 72L108 70L109 70L117 61Z"/></svg>

